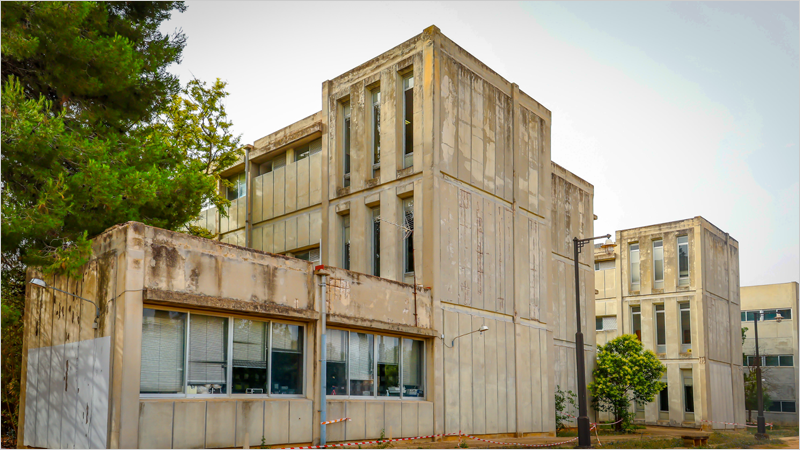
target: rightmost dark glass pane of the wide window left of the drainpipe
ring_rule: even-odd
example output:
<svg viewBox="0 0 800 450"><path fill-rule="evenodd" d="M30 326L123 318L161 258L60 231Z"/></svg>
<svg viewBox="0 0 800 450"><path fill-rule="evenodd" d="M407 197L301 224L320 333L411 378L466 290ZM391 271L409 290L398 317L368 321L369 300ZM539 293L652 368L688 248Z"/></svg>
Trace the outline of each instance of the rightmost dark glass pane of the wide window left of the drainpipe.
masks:
<svg viewBox="0 0 800 450"><path fill-rule="evenodd" d="M303 393L303 334L298 325L272 324L273 394Z"/></svg>

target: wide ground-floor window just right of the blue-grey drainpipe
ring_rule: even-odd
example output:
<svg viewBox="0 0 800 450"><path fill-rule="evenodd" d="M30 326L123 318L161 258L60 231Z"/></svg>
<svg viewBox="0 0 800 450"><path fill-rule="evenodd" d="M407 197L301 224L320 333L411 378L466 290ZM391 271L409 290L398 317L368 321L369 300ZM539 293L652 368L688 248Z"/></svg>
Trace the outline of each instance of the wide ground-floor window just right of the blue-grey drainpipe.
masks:
<svg viewBox="0 0 800 450"><path fill-rule="evenodd" d="M329 329L328 395L422 398L424 348L416 339Z"/></svg>

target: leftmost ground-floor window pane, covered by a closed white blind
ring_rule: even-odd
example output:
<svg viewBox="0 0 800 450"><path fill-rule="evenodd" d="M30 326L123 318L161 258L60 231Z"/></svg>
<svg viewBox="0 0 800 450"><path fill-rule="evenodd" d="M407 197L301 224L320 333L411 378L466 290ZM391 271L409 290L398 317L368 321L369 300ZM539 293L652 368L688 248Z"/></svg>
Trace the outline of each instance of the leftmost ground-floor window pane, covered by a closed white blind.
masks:
<svg viewBox="0 0 800 450"><path fill-rule="evenodd" d="M144 309L139 392L183 392L185 337L186 313Z"/></svg>

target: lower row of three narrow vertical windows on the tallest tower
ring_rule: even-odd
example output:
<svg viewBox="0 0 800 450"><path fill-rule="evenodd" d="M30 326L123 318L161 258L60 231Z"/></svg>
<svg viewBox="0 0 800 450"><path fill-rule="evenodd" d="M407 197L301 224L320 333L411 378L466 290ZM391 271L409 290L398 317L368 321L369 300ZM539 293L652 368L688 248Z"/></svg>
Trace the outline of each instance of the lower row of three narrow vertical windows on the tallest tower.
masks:
<svg viewBox="0 0 800 450"><path fill-rule="evenodd" d="M414 272L414 198L410 197L403 200L403 223L397 227L397 233L402 237L403 243L403 272L408 274ZM372 226L370 227L371 236L369 237L371 253L369 261L372 265L371 273L375 276L381 275L381 208L372 208ZM393 225L390 225L394 228ZM350 270L350 215L342 217L342 268Z"/></svg>

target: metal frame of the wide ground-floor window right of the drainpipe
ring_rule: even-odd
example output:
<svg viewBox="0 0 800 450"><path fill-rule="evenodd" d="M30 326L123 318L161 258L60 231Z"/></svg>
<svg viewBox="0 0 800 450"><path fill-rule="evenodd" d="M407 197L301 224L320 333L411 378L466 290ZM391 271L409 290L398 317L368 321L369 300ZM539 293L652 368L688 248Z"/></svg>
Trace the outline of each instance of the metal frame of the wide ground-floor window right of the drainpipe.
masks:
<svg viewBox="0 0 800 450"><path fill-rule="evenodd" d="M347 379L345 380L345 384L347 386L347 393L344 395L340 394L326 394L328 397L334 398L336 400L388 400L388 401L427 401L428 398L428 388L427 388L427 341L423 338L415 338L415 337L408 337L403 336L400 334L393 334L393 333L376 333L368 330L355 330L355 329L347 329L347 328L340 328L340 327L328 327L328 330L337 330L343 331L347 333L347 346L345 348L345 373L347 374ZM350 338L352 333L362 333L372 335L372 354L373 354L373 361L372 361L372 373L373 373L373 380L372 380L372 395L351 395L350 394ZM400 395L397 397L385 397L378 395L378 336L384 337L391 337L391 338L398 338L399 341L399 364L398 364L398 371L399 371L399 383L400 383ZM416 341L422 343L422 355L420 357L420 366L422 368L422 375L421 375L421 385L422 391L425 393L421 397L405 397L403 396L403 344L406 340L409 341ZM326 380L327 381L327 380Z"/></svg>

